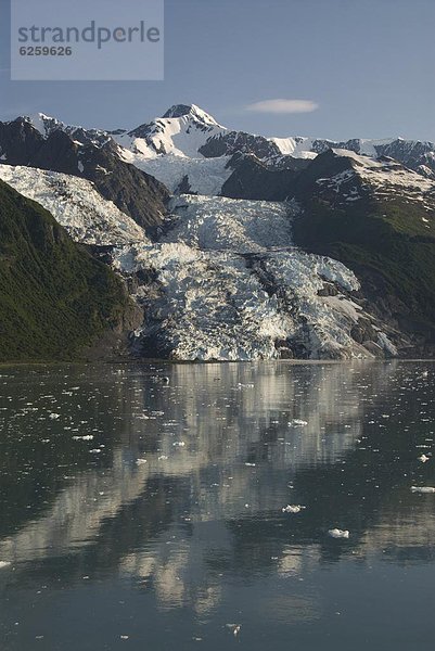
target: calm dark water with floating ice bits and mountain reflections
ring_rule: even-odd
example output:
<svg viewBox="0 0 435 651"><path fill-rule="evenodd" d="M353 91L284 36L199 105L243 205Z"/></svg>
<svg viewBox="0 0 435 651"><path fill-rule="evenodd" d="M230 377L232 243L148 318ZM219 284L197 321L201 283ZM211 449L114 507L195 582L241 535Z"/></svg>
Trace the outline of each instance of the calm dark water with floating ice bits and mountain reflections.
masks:
<svg viewBox="0 0 435 651"><path fill-rule="evenodd" d="M0 648L432 651L434 398L430 362L0 369Z"/></svg>

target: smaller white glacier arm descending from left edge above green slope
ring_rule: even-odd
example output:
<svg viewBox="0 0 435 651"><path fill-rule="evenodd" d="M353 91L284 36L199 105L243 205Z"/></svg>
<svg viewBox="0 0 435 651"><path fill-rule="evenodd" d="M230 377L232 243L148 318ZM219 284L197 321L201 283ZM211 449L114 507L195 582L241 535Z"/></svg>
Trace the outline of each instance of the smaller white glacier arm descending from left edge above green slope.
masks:
<svg viewBox="0 0 435 651"><path fill-rule="evenodd" d="M136 221L103 199L90 181L11 165L0 165L0 179L41 204L76 242L119 246L148 241Z"/></svg>

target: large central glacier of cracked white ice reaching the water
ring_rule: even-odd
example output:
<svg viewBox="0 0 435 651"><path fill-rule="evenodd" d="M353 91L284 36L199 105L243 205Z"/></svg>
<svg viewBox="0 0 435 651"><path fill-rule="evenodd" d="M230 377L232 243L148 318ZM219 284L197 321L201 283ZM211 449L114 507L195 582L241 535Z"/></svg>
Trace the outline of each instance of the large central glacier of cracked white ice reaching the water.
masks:
<svg viewBox="0 0 435 651"><path fill-rule="evenodd" d="M353 328L369 319L353 297L359 282L341 263L292 245L299 207L181 195L158 243L113 252L113 266L135 278L144 323L138 355L176 360L373 358ZM141 280L142 279L142 280ZM321 290L330 284L333 295ZM379 355L394 346L379 331Z"/></svg>

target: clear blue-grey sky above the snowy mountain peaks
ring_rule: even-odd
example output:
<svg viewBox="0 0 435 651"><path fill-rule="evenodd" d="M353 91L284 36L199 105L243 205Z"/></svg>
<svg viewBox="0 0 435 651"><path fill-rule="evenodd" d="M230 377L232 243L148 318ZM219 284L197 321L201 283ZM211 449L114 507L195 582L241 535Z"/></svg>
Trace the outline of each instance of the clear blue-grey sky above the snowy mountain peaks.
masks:
<svg viewBox="0 0 435 651"><path fill-rule="evenodd" d="M435 140L435 0L166 0L165 81L142 82L10 81L8 4L0 0L2 119L41 111L135 127L196 103L265 136ZM246 111L273 99L319 107Z"/></svg>

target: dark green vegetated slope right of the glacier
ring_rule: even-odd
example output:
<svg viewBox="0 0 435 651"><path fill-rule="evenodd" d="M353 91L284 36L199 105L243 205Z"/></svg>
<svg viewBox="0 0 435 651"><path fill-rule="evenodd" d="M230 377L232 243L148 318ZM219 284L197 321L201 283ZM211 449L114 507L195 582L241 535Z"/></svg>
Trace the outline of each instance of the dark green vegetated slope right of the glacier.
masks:
<svg viewBox="0 0 435 651"><path fill-rule="evenodd" d="M400 195L367 197L345 208L318 197L305 205L295 241L347 265L400 327L435 341L433 214Z"/></svg>

